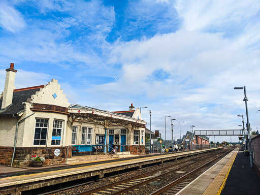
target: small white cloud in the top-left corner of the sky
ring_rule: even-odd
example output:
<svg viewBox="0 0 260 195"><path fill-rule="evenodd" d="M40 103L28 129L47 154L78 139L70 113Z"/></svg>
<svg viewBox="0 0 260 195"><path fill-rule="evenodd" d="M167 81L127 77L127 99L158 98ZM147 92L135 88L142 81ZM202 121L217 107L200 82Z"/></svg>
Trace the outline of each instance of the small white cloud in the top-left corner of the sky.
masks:
<svg viewBox="0 0 260 195"><path fill-rule="evenodd" d="M5 4L5 2L0 2L0 25L11 32L18 32L26 24L18 10Z"/></svg>

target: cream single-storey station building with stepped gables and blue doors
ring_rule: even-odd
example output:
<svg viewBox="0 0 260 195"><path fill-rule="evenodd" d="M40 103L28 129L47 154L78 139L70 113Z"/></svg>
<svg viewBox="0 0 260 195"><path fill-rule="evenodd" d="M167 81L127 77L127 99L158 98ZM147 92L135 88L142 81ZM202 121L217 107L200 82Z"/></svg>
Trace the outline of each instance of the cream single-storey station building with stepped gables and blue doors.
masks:
<svg viewBox="0 0 260 195"><path fill-rule="evenodd" d="M79 152L102 146L117 152L145 152L145 125L140 110L109 112L71 105L58 81L15 89L14 63L6 69L0 95L0 163L17 167L30 164L32 155L45 157L44 165L62 164ZM108 148L106 148L108 147Z"/></svg>

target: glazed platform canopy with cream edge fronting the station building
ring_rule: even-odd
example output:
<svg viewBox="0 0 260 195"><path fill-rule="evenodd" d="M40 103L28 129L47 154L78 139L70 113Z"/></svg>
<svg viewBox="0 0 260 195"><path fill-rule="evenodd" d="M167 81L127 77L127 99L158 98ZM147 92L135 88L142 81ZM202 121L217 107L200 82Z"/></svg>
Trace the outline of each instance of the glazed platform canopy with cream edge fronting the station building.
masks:
<svg viewBox="0 0 260 195"><path fill-rule="evenodd" d="M126 128L129 125L132 128L144 127L147 124L144 120L87 106L80 106L78 104L70 106L68 112L72 115L72 123L75 121L94 122L103 125L105 128L112 125L120 125Z"/></svg>

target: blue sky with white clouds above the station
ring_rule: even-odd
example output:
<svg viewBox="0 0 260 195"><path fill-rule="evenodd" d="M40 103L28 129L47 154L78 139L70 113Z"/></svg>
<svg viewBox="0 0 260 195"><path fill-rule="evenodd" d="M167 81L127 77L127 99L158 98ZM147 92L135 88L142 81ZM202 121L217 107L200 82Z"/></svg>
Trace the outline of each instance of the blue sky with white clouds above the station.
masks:
<svg viewBox="0 0 260 195"><path fill-rule="evenodd" d="M244 91L234 87L243 86L260 130L259 49L256 0L0 0L0 91L12 62L16 88L57 79L71 104L148 107L143 120L149 128L151 110L163 139L171 119L177 138L190 125L240 129Z"/></svg>

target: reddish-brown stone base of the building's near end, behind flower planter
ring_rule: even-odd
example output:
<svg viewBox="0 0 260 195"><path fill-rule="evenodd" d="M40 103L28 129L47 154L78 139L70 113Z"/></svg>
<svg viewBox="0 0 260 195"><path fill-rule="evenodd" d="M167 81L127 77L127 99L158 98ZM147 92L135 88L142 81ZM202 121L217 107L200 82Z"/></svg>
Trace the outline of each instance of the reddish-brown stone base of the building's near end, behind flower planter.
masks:
<svg viewBox="0 0 260 195"><path fill-rule="evenodd" d="M59 149L60 155L55 156L54 150ZM43 163L46 165L63 164L66 161L68 149L68 157L71 156L71 147L16 147L13 166L28 167L31 164L32 155L40 155L45 158ZM0 163L3 165L11 165L14 147L0 147Z"/></svg>

